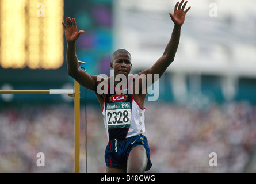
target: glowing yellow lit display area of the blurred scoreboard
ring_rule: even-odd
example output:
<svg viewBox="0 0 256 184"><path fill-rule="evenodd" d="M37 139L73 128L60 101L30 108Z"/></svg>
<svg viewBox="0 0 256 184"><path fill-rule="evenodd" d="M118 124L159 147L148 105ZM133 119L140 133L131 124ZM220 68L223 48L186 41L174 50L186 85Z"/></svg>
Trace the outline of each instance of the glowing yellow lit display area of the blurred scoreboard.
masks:
<svg viewBox="0 0 256 184"><path fill-rule="evenodd" d="M44 3L40 3L44 2ZM64 1L1 1L2 68L58 69L63 64Z"/></svg>

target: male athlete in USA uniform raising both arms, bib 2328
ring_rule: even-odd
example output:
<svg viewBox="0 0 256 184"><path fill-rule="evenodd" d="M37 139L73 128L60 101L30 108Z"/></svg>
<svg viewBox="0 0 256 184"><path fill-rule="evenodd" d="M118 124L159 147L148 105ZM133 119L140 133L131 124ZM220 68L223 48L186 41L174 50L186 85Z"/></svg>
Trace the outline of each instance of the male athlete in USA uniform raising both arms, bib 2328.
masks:
<svg viewBox="0 0 256 184"><path fill-rule="evenodd" d="M78 31L75 18L71 20L70 17L67 17L67 25L62 22L67 41L68 75L81 86L93 90L100 102L109 141L105 150L106 172L142 173L150 170L152 166L148 141L143 135L145 132L144 101L146 93L142 93L144 90L142 83L146 82L147 84L148 76L158 75L160 78L174 61L181 27L184 24L186 13L190 9L188 7L185 10L187 2L184 3L184 0L180 3L177 2L174 13L169 13L174 22L171 39L156 63L137 75L143 75L144 78L129 75L132 69L131 54L125 49L118 49L112 55L110 68L114 71L113 76L102 78L98 75L87 74L79 67L75 52L75 41L84 31ZM124 85L120 85L120 80L116 80L116 77L120 75L125 76ZM135 85L136 82L139 85ZM146 85L146 91L148 87L150 86ZM139 92L135 93L136 90ZM105 92L99 93L99 91Z"/></svg>

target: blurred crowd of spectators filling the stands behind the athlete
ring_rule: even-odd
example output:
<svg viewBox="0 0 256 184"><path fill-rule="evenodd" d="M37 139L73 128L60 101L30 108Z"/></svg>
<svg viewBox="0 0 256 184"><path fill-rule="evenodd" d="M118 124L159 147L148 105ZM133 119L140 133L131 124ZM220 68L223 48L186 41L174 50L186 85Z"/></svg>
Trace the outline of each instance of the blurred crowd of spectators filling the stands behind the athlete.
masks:
<svg viewBox="0 0 256 184"><path fill-rule="evenodd" d="M146 103L149 172L256 172L256 106L206 108ZM101 110L87 105L87 172L105 172L107 144ZM74 172L74 107L24 105L0 110L0 172ZM37 153L45 166L37 166ZM209 154L217 166L209 166ZM85 106L81 105L81 172L85 172Z"/></svg>

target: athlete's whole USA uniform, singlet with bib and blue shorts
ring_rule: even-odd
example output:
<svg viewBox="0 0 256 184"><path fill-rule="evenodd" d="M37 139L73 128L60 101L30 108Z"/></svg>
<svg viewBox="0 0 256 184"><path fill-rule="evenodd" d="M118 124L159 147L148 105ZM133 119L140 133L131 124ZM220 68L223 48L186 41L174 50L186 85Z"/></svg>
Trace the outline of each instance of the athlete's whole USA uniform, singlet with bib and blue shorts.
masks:
<svg viewBox="0 0 256 184"><path fill-rule="evenodd" d="M150 149L145 132L144 113L132 95L132 76L123 89L115 89L114 79L109 79L108 92L105 94L102 115L108 136L105 162L108 167L126 168L129 152L136 145L144 145L148 156L146 171L152 166ZM111 89L112 88L112 89Z"/></svg>

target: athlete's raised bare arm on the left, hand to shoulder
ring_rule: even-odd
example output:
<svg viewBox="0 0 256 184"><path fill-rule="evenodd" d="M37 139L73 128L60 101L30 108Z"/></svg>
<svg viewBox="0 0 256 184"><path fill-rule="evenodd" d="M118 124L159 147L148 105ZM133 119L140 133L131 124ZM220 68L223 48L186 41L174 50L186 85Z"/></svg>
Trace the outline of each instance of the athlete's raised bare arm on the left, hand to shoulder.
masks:
<svg viewBox="0 0 256 184"><path fill-rule="evenodd" d="M72 23L74 22L74 25ZM67 25L62 22L65 30L65 36L67 40L67 70L68 75L74 78L80 85L86 87L87 89L96 91L97 89L97 76L89 75L87 72L81 70L78 64L77 54L75 52L75 41L78 39L79 35L83 33L83 30L77 29L77 23L75 18L66 18Z"/></svg>

